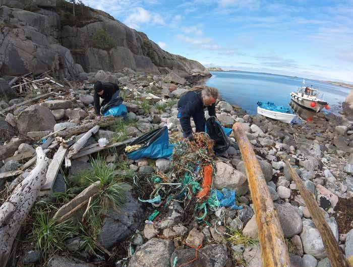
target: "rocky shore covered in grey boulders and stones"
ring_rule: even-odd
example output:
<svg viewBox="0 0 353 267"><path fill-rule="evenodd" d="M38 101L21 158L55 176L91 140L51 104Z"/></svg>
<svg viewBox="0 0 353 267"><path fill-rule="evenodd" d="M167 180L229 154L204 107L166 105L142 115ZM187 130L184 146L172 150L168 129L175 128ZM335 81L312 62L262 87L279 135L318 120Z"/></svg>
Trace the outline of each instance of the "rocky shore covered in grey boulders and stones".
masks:
<svg viewBox="0 0 353 267"><path fill-rule="evenodd" d="M131 69L120 73L98 71L89 73L87 78L84 82L61 82L65 88L52 85L50 91L54 95L50 99L14 109L11 112L13 124L4 118L0 120L3 142L0 157L6 162L2 163L2 174L19 170L28 158L11 158L34 153L41 145L40 138L48 132L94 121L91 84L96 80L119 83L129 121L101 127L86 147L96 144L99 138L106 138L109 143L124 141L163 126L168 127L171 143L182 140L176 104L180 96L192 88L187 80L173 73L147 75ZM11 92L4 81L2 86L6 92ZM5 109L23 100L2 100L0 106ZM351 257L353 124L344 116L318 113L311 122L290 126L259 115L250 116L241 107L221 100L217 101L216 111L225 127L241 123L254 146L279 215L291 266L324 267L330 264L310 212L284 163L286 159L315 194L340 248L347 258ZM90 155L91 158L73 159L70 167L62 165L53 192L37 199L22 227L12 262L36 266L261 266L261 248L245 166L232 135L230 140L229 149L212 159L215 165L213 186L236 189L237 205L242 209L223 207L199 222L196 217L200 214L196 211L187 214L183 203L171 201L158 208L142 203L138 200L145 190L142 181L148 181L157 173L168 173L172 163L166 159L134 161L126 158L121 150L106 150L99 155ZM92 159L97 157L103 157L104 164L110 166L107 168L117 171L115 174L132 189L126 192L126 199L118 210L109 209L98 223L97 233L71 234L62 240L61 249L52 248L45 254L36 241L39 226L35 211L44 203L47 210L43 212L51 218L60 206L82 192L85 187L80 187L78 180L86 177L83 170L94 171ZM0 180L0 204L30 169ZM141 186L136 186L137 181ZM153 183L145 183L145 186L150 188ZM155 210L159 215L151 218ZM87 235L94 236L93 243L87 241Z"/></svg>

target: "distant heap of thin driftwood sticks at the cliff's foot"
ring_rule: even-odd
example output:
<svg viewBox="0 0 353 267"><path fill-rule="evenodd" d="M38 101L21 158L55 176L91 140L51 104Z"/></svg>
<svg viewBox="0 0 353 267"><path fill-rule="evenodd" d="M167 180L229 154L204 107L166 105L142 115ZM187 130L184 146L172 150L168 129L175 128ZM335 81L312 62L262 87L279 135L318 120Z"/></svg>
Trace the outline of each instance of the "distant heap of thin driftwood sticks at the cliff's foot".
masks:
<svg viewBox="0 0 353 267"><path fill-rule="evenodd" d="M9 82L9 86L15 89L19 96L25 96L27 94L46 94L51 92L53 85L60 88L64 87L64 85L54 81L48 73L49 72L46 72L39 76L33 76L32 73L28 73L23 76L15 77Z"/></svg>

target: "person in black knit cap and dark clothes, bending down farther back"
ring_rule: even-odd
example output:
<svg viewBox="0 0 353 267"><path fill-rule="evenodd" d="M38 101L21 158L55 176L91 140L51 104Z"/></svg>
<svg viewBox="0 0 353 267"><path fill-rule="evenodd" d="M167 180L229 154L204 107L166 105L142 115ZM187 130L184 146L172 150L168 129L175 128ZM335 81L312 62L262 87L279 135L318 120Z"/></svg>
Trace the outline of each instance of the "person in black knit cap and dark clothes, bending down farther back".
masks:
<svg viewBox="0 0 353 267"><path fill-rule="evenodd" d="M117 86L117 84L102 83L99 81L94 84L94 109L97 114L97 118L100 117L100 107L107 104L117 91L119 91L119 86ZM100 98L103 98L101 104Z"/></svg>

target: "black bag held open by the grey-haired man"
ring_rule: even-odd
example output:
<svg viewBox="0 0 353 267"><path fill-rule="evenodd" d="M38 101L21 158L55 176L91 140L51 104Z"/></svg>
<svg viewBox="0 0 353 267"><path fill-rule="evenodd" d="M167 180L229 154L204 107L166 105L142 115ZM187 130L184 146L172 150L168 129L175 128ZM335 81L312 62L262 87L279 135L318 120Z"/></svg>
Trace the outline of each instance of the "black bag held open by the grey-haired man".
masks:
<svg viewBox="0 0 353 267"><path fill-rule="evenodd" d="M206 130L210 139L214 141L213 150L217 154L225 152L229 146L230 141L224 132L224 128L217 121L215 117L210 117L206 121Z"/></svg>

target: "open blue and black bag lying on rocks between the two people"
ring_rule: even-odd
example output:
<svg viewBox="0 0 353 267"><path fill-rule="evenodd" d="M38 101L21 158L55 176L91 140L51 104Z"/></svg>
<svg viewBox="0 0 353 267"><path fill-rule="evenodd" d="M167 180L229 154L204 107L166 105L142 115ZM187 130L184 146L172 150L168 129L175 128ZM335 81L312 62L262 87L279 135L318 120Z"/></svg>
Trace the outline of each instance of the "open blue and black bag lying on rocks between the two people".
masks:
<svg viewBox="0 0 353 267"><path fill-rule="evenodd" d="M160 159L170 158L173 154L174 144L169 144L168 128L164 126L140 137L147 142L143 147L126 154L129 159L137 160L140 158ZM138 145L139 142L133 142L130 145Z"/></svg>

